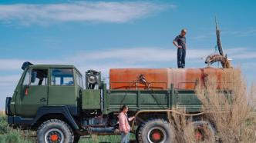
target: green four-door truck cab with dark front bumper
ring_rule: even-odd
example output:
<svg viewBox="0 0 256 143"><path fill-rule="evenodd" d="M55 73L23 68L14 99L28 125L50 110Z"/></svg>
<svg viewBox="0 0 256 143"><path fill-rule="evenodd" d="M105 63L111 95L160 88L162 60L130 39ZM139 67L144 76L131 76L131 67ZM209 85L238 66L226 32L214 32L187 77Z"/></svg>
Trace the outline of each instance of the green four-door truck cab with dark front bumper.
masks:
<svg viewBox="0 0 256 143"><path fill-rule="evenodd" d="M39 108L45 106L66 106L72 115L78 115L83 78L74 66L25 62L22 69L23 74L6 105L9 121L22 123L23 118L28 121L28 118L35 118Z"/></svg>

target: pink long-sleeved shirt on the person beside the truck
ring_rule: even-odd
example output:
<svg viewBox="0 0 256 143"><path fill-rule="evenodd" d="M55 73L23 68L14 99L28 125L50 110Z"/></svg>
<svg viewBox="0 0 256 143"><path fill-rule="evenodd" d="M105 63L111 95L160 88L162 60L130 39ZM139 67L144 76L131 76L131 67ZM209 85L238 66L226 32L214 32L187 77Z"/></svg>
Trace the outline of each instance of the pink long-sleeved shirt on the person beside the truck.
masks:
<svg viewBox="0 0 256 143"><path fill-rule="evenodd" d="M120 112L120 114L118 115L118 122L119 122L119 130L120 131L130 131L130 125L129 125L129 121L132 120L132 118L126 118L126 114L122 112Z"/></svg>

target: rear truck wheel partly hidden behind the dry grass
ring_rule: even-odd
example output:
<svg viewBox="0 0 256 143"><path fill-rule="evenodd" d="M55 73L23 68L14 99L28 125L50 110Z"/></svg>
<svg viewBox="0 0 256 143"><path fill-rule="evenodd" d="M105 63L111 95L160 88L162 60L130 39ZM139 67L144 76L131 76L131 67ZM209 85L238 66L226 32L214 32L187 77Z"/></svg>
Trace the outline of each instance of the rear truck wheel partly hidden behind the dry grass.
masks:
<svg viewBox="0 0 256 143"><path fill-rule="evenodd" d="M216 130L213 125L208 121L193 121L194 127L194 141L195 142L216 142ZM191 126L188 126L190 128ZM186 130L185 130L186 131ZM188 131L188 130L187 130ZM191 140L191 138L189 138Z"/></svg>

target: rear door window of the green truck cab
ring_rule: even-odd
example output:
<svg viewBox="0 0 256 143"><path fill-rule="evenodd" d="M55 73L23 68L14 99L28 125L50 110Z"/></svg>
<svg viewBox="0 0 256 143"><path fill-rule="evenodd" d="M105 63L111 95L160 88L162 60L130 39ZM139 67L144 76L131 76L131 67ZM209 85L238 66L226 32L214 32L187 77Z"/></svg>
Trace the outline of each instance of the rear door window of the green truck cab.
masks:
<svg viewBox="0 0 256 143"><path fill-rule="evenodd" d="M51 85L74 85L72 69L52 68L51 71Z"/></svg>

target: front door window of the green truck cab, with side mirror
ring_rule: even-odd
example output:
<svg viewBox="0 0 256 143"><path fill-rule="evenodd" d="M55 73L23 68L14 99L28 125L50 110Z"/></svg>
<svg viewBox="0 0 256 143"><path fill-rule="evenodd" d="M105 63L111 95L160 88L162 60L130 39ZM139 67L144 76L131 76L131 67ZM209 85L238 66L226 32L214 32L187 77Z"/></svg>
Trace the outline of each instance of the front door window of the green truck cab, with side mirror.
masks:
<svg viewBox="0 0 256 143"><path fill-rule="evenodd" d="M31 80L30 85L47 85L48 69L32 68L31 77L35 76L35 80Z"/></svg>

